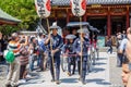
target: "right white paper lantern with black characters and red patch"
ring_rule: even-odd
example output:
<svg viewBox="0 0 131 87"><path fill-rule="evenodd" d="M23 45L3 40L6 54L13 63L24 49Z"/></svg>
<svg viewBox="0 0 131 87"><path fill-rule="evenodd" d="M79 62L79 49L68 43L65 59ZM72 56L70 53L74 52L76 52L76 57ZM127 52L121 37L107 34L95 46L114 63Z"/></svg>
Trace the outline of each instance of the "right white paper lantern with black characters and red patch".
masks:
<svg viewBox="0 0 131 87"><path fill-rule="evenodd" d="M83 16L86 12L86 0L70 0L70 5L74 16Z"/></svg>

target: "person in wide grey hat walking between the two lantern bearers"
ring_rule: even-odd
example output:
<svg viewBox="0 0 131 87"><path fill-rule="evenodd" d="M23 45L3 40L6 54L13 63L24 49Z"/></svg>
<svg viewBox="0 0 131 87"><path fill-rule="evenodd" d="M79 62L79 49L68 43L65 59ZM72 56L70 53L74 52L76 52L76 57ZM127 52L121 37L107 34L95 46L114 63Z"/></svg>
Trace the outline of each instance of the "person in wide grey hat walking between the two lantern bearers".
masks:
<svg viewBox="0 0 131 87"><path fill-rule="evenodd" d="M74 48L74 35L66 36L68 42L64 44L63 53L68 57L68 75L71 76L75 72L75 48ZM71 65L73 65L73 71L71 73Z"/></svg>

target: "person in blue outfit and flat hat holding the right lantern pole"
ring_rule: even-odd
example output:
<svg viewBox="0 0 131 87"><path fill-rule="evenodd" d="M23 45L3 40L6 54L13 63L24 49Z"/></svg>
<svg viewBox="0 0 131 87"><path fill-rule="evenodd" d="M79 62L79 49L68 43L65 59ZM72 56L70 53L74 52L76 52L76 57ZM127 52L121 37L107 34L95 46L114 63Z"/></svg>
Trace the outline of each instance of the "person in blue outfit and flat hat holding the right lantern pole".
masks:
<svg viewBox="0 0 131 87"><path fill-rule="evenodd" d="M76 50L76 53L79 54L78 55L78 69L79 69L79 74L81 76L82 84L86 84L85 75L86 75L87 49L90 46L90 40L85 38L85 35L86 35L85 29L79 29L78 33L80 34L80 37L74 41L75 50ZM82 44L82 47L81 47L81 44ZM81 61L81 57L82 57L82 61Z"/></svg>

